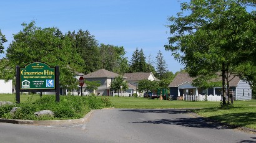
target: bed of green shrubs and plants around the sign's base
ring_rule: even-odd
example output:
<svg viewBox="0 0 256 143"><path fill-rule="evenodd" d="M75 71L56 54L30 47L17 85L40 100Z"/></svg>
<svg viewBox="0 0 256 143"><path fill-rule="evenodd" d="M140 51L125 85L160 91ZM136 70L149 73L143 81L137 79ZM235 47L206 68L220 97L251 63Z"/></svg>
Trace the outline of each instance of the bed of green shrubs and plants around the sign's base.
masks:
<svg viewBox="0 0 256 143"><path fill-rule="evenodd" d="M20 108L14 114L10 114L9 112L14 106ZM112 103L109 98L97 96L61 96L60 102L56 102L55 96L44 95L34 102L29 98L25 103L0 106L0 118L32 120L77 119L82 118L91 109L102 109L111 106ZM51 110L54 113L54 118L34 115L36 111L41 110Z"/></svg>

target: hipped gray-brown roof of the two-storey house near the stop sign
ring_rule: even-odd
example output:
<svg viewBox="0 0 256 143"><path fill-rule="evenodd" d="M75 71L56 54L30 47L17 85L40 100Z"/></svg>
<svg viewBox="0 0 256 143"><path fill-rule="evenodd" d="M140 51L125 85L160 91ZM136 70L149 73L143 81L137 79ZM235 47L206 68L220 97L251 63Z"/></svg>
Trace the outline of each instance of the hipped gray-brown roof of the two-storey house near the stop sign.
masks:
<svg viewBox="0 0 256 143"><path fill-rule="evenodd" d="M84 75L84 78L115 78L116 76L119 76L119 74L101 69Z"/></svg>

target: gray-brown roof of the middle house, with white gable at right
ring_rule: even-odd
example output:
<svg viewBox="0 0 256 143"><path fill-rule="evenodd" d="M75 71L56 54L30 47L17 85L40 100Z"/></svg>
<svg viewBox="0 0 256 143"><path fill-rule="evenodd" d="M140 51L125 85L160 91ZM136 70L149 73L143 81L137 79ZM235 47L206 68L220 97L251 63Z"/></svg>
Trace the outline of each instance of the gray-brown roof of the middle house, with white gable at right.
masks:
<svg viewBox="0 0 256 143"><path fill-rule="evenodd" d="M155 76L151 72L124 73L124 76L126 77L126 81L139 81L139 80L149 79L150 74L152 74L154 80L158 80L157 78L155 78Z"/></svg>

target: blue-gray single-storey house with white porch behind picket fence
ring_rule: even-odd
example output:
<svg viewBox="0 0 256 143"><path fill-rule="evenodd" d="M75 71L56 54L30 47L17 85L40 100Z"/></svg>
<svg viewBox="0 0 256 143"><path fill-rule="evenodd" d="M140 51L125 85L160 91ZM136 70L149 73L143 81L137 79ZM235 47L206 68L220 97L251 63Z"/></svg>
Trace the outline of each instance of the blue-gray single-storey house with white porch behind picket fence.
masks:
<svg viewBox="0 0 256 143"><path fill-rule="evenodd" d="M188 73L179 73L176 75L169 85L170 96L173 96L173 98L185 98L185 96L187 97L188 95L191 96L191 98L195 98L199 95L220 96L222 94L222 87L201 89L192 86L191 83L194 79L195 78L190 77ZM221 78L218 80L221 81ZM229 92L236 100L252 99L252 89L247 81L240 80L238 76L235 76L229 84Z"/></svg>

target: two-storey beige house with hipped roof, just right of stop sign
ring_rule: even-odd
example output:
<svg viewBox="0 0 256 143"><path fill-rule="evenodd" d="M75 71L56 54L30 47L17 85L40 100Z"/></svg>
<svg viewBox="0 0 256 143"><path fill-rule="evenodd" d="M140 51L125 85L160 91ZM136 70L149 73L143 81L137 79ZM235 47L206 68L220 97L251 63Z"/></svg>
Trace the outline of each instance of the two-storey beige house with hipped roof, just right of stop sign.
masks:
<svg viewBox="0 0 256 143"><path fill-rule="evenodd" d="M116 76L119 76L117 73L113 73L111 71L101 69L94 71L92 73L88 73L87 75L84 75L84 80L88 81L100 81L101 86L99 86L96 93L99 93L99 95L112 95L111 93L111 82L114 80ZM121 75L122 76L122 75Z"/></svg>

